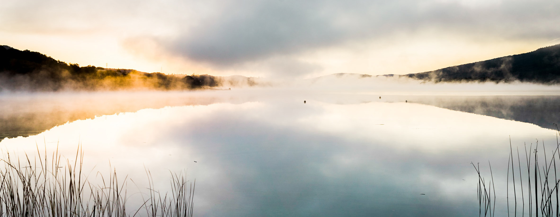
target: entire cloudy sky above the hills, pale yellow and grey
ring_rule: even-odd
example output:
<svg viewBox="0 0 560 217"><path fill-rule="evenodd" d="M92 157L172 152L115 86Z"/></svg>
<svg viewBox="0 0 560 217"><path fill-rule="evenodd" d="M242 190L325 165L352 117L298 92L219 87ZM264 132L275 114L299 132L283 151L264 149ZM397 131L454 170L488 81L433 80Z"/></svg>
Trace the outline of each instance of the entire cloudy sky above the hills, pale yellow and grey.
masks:
<svg viewBox="0 0 560 217"><path fill-rule="evenodd" d="M4 0L0 44L82 66L408 74L560 44L557 0Z"/></svg>

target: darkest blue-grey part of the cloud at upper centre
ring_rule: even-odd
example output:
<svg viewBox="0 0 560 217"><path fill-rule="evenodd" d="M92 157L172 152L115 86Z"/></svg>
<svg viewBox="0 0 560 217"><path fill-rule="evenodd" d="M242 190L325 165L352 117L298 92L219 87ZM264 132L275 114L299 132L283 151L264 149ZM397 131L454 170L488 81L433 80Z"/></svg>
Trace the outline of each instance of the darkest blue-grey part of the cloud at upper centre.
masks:
<svg viewBox="0 0 560 217"><path fill-rule="evenodd" d="M342 39L345 33L312 8L314 3L288 1L239 5L179 37L174 50L195 60L230 65Z"/></svg>

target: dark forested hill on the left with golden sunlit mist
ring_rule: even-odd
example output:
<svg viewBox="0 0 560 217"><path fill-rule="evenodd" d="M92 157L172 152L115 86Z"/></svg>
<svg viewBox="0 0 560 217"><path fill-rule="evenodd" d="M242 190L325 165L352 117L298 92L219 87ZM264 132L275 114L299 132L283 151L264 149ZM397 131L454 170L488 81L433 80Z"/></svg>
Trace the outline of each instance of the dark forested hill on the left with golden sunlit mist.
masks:
<svg viewBox="0 0 560 217"><path fill-rule="evenodd" d="M179 77L132 69L80 67L38 52L0 45L0 92L196 89L216 87L219 83L217 77L207 74Z"/></svg>

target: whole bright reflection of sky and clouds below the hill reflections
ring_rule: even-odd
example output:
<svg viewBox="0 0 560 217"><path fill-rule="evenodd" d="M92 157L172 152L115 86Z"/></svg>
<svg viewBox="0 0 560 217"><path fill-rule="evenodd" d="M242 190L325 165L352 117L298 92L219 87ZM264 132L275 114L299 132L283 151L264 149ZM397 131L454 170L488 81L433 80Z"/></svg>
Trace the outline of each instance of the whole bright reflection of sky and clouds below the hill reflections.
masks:
<svg viewBox="0 0 560 217"><path fill-rule="evenodd" d="M36 140L60 140L73 156L79 140L86 163L110 160L139 185L143 165L158 185L186 168L202 216L473 216L469 163L507 162L508 135L554 139L535 125L414 103L283 98L101 116L0 144L34 151Z"/></svg>

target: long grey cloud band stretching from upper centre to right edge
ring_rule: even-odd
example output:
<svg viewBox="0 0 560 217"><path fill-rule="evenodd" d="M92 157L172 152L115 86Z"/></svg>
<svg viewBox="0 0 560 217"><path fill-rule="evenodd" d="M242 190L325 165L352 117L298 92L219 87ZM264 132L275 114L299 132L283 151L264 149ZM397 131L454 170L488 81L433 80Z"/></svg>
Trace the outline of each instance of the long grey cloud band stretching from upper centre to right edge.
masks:
<svg viewBox="0 0 560 217"><path fill-rule="evenodd" d="M558 1L243 1L185 31L170 49L229 66L276 54L437 30L501 38L557 38Z"/></svg>

